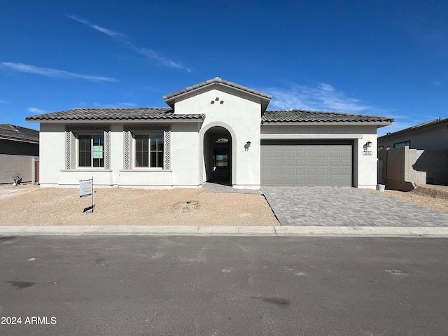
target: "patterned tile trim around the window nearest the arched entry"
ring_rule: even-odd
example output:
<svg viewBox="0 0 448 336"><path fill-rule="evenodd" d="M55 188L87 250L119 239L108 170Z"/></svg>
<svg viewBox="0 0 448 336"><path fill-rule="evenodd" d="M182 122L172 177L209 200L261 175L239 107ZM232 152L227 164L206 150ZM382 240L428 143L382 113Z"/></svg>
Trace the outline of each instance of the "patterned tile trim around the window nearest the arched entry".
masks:
<svg viewBox="0 0 448 336"><path fill-rule="evenodd" d="M163 131L164 139L164 162L163 170L170 169L170 127L169 125L130 125L124 127L125 138L125 155L123 155L123 167L124 170L132 169L131 153L132 153L132 132L140 131Z"/></svg>

